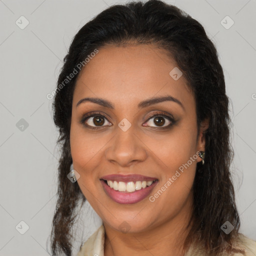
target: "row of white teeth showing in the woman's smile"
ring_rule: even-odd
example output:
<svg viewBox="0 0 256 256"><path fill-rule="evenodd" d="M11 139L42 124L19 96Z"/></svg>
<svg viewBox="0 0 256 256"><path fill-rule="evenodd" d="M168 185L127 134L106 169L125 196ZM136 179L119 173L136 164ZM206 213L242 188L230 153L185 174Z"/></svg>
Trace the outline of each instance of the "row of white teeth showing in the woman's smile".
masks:
<svg viewBox="0 0 256 256"><path fill-rule="evenodd" d="M153 183L153 180L150 181L133 181L123 182L123 181L111 181L107 180L108 186L113 188L114 190L122 191L122 192L134 192L135 190L140 190L141 188L145 188L146 186L150 186Z"/></svg>

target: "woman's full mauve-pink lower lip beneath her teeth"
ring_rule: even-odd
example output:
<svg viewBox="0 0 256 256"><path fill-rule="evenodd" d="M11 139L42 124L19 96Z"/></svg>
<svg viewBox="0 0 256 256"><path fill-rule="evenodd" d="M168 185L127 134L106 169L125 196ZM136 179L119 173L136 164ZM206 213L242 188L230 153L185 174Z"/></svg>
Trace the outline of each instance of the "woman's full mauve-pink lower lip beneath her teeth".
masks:
<svg viewBox="0 0 256 256"><path fill-rule="evenodd" d="M143 200L154 188L157 180L153 182L150 186L147 186L145 188L141 188L140 190L135 190L134 192L121 192L118 190L114 190L110 186L108 186L102 179L100 179L100 182L103 186L103 189L105 193L115 202L118 203L136 203L141 200Z"/></svg>

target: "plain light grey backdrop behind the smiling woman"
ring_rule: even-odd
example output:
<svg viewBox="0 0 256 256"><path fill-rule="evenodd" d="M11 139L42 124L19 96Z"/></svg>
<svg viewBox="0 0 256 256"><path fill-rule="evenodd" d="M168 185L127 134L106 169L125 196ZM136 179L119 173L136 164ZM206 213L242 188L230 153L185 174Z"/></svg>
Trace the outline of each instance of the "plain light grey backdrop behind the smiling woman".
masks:
<svg viewBox="0 0 256 256"><path fill-rule="evenodd" d="M201 22L219 52L232 101L232 172L240 231L256 240L256 1L166 2ZM48 255L59 152L52 100L46 94L55 88L72 37L113 3L117 1L0 0L0 255ZM21 15L29 21L24 29L15 23L21 23ZM234 21L229 29L221 24L226 15ZM16 125L24 122L21 118L28 123L23 130ZM81 215L87 233L77 233L77 244L100 224L90 207ZM24 231L21 220L29 227L24 234L15 228Z"/></svg>

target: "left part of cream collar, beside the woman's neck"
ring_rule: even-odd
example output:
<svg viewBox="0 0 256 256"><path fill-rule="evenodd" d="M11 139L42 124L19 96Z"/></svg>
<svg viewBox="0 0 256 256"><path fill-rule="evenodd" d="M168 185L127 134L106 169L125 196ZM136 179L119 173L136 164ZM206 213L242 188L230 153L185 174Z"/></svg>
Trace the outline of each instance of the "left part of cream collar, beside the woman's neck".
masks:
<svg viewBox="0 0 256 256"><path fill-rule="evenodd" d="M104 253L105 228L101 225L82 245L76 256L97 255Z"/></svg>

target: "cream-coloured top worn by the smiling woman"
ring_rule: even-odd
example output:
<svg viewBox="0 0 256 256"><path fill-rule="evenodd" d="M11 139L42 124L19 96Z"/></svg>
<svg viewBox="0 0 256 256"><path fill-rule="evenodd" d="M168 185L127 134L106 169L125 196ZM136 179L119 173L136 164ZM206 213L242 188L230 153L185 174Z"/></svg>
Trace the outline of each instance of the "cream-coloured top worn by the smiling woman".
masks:
<svg viewBox="0 0 256 256"><path fill-rule="evenodd" d="M80 248L76 256L104 256L105 228L101 225ZM256 256L256 241L239 234L240 241L233 245L234 248L244 249L245 254L234 253L232 256ZM203 249L190 246L185 256L206 256ZM208 254L209 255L209 254ZM157 256L157 255L156 255ZM223 256L228 256L226 253Z"/></svg>

